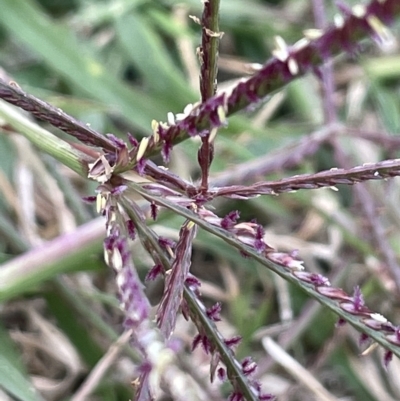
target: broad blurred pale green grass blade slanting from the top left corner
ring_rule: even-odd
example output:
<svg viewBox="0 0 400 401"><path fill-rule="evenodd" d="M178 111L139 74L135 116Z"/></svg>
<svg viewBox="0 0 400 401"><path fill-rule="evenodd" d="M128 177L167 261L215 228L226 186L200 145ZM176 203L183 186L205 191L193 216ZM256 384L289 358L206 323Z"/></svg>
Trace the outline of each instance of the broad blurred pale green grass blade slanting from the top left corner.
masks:
<svg viewBox="0 0 400 401"><path fill-rule="evenodd" d="M65 25L51 21L34 1L0 0L0 8L0 24L15 38L72 85L106 102L111 111L124 116L132 126L148 132L151 119L161 118L169 111L165 102L137 88L127 88L107 71L93 49L80 42Z"/></svg>

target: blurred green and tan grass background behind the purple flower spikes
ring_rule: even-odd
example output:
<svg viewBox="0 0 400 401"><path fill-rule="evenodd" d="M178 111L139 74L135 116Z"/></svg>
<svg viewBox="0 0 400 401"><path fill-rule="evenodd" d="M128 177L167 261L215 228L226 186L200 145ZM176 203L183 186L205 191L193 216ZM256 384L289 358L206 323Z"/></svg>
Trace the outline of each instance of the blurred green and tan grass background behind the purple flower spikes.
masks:
<svg viewBox="0 0 400 401"><path fill-rule="evenodd" d="M304 30L332 24L338 12L334 2L326 1L314 18L321 3L222 1L219 89L229 90L254 73L257 63L272 56L276 36L292 44ZM199 100L201 27L191 17L201 17L198 0L0 0L0 10L2 78L98 132L124 140L130 132L140 140L152 133L153 119L166 121L168 112L181 113ZM330 87L329 79L321 83L321 74L307 74L232 116L217 134L211 185L272 181L397 158L398 33L397 23L381 46L366 40L356 52L335 57L320 71L332 78ZM104 219L82 202L98 183L56 162L51 151L38 151L20 135L30 128L18 130L2 107L0 399L128 400L139 359L121 336L114 272L103 258ZM34 127L74 142L25 116ZM200 143L190 138L174 147L170 170L196 182ZM160 156L153 160L162 164ZM328 277L349 294L360 286L366 304L396 325L398 179L337 189L247 201L220 198L213 211L223 217L238 210L241 221L256 219L269 245L282 252L297 249L307 271ZM149 224L159 235L178 240L182 222L163 211ZM133 242L132 254L144 280L153 263L139 241ZM360 356L371 343L366 336L337 324L336 314L254 259L199 230L191 272L201 281L205 305L222 303L218 328L226 337L242 337L236 357L257 361L255 375L264 391L293 401L398 399L397 358L385 369L388 354L382 349ZM154 307L162 291L160 279L146 284ZM182 388L174 393L166 386L160 399L228 398L228 383L218 378L210 383L210 357L201 347L191 351L196 334L180 316L174 338Z"/></svg>

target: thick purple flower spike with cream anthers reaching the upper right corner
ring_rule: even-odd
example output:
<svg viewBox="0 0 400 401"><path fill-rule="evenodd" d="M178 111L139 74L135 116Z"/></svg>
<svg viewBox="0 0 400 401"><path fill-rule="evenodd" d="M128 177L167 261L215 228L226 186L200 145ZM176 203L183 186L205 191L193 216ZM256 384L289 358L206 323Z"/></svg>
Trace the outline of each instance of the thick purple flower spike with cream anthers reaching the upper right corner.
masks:
<svg viewBox="0 0 400 401"><path fill-rule="evenodd" d="M175 124L158 126L156 135L146 144L145 156L157 153L164 143L176 144L188 135L220 127L225 124L226 116L260 102L308 72L315 72L316 67L327 59L343 51L354 52L362 39L384 36L383 24L393 22L399 14L398 0L373 0L368 6L355 8L347 18L331 25L325 32L321 31L321 36L316 39L303 38L293 46L282 45L275 52L276 57L251 78L241 81L230 95L214 95ZM127 165L126 169L132 165Z"/></svg>

